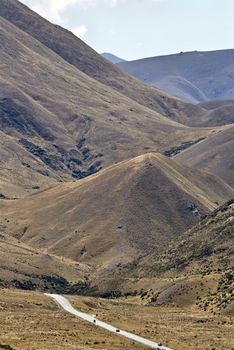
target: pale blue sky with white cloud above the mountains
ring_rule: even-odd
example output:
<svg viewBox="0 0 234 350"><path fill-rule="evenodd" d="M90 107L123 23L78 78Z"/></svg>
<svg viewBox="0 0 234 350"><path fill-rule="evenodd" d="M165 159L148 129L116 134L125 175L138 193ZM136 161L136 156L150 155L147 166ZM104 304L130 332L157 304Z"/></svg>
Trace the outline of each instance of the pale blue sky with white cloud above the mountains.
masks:
<svg viewBox="0 0 234 350"><path fill-rule="evenodd" d="M21 0L126 60L234 48L234 0Z"/></svg>

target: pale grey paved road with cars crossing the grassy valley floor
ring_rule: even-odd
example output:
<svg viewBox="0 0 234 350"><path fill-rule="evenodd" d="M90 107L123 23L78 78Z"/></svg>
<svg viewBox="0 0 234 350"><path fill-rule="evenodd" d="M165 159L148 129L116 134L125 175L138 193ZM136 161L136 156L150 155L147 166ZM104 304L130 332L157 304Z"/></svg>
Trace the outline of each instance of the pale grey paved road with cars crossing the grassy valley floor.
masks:
<svg viewBox="0 0 234 350"><path fill-rule="evenodd" d="M91 322L92 324L95 324L98 327L107 329L108 331L113 332L113 333L115 333L117 335L121 335L121 336L123 336L125 338L129 338L131 340L134 340L137 343L149 346L152 349L172 350L170 348L167 348L166 346L159 346L158 343L155 343L155 342L153 342L151 340L139 337L139 336L137 336L135 334L132 334L132 333L129 333L129 332L125 332L125 331L119 330L119 332L116 333L116 327L113 327L113 326L109 325L108 323L99 321L97 319L95 319L96 322L94 323L93 322L94 321L94 316L89 315L89 314L85 314L84 312L77 311L70 304L70 302L66 298L64 298L63 296L58 295L58 294L47 294L47 293L45 293L45 295L47 295L48 297L54 299L57 302L58 305L60 305L64 310L66 310L70 314L72 314L72 315L74 315L76 317L82 318L85 321Z"/></svg>

